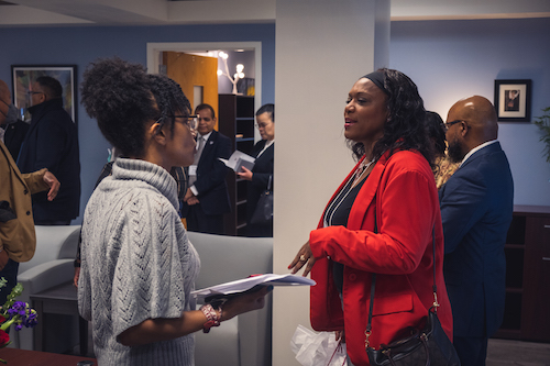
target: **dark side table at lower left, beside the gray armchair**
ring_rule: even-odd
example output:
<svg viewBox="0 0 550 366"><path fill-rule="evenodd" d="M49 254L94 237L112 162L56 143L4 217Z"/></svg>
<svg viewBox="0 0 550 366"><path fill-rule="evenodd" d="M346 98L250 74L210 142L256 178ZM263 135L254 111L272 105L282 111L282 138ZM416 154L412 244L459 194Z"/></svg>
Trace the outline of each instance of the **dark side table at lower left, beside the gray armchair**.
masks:
<svg viewBox="0 0 550 366"><path fill-rule="evenodd" d="M32 307L38 314L38 324L34 328L34 350L44 351L46 334L41 319L44 314L78 315L78 335L80 355L88 353L88 322L78 312L77 289L73 282L52 287L31 296Z"/></svg>

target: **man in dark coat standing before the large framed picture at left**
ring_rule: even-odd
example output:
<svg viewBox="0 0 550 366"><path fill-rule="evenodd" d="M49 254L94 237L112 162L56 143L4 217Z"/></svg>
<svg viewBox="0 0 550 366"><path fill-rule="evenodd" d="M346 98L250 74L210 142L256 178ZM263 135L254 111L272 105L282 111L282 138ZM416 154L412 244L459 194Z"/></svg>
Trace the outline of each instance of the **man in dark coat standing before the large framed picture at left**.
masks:
<svg viewBox="0 0 550 366"><path fill-rule="evenodd" d="M68 225L80 208L80 158L78 134L63 108L63 87L53 77L41 76L29 91L31 126L18 158L21 173L47 168L62 184L57 198L48 201L44 192L33 195L34 223Z"/></svg>

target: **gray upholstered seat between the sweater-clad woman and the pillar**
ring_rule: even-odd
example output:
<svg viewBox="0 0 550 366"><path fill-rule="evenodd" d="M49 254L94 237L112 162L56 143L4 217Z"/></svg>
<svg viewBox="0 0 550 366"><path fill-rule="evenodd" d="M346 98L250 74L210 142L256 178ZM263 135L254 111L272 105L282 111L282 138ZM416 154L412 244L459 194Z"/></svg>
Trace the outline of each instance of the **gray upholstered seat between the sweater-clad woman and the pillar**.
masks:
<svg viewBox="0 0 550 366"><path fill-rule="evenodd" d="M273 239L242 237L188 232L200 256L196 288L241 279L273 270ZM266 366L272 355L272 298L264 309L241 314L213 328L195 333L196 366Z"/></svg>

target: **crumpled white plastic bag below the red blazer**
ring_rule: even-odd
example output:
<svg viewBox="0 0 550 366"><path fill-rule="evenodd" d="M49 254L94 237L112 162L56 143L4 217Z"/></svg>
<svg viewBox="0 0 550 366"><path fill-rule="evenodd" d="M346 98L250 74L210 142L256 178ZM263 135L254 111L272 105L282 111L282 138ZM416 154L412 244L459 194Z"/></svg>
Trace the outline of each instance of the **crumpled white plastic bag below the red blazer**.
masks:
<svg viewBox="0 0 550 366"><path fill-rule="evenodd" d="M345 366L345 344L336 341L334 332L316 333L298 325L290 348L302 366Z"/></svg>

